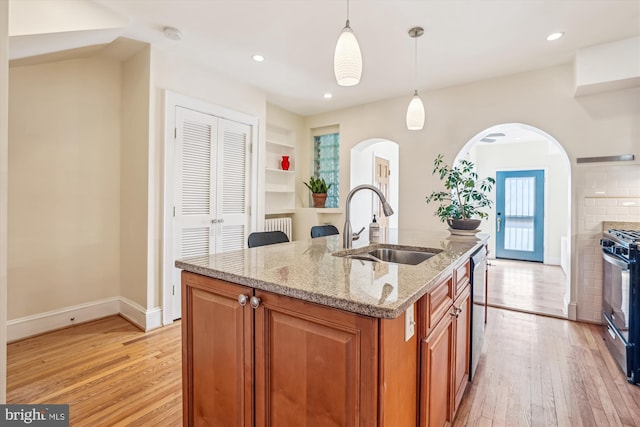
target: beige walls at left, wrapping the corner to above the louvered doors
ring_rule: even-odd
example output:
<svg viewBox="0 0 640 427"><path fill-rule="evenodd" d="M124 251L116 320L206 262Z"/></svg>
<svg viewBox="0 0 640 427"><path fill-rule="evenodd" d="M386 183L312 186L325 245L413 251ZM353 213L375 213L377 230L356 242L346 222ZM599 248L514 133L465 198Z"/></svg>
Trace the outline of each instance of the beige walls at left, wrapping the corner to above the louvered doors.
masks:
<svg viewBox="0 0 640 427"><path fill-rule="evenodd" d="M149 46L122 56L11 68L13 339L117 312L161 324L166 89L257 117L264 151L262 91Z"/></svg>

